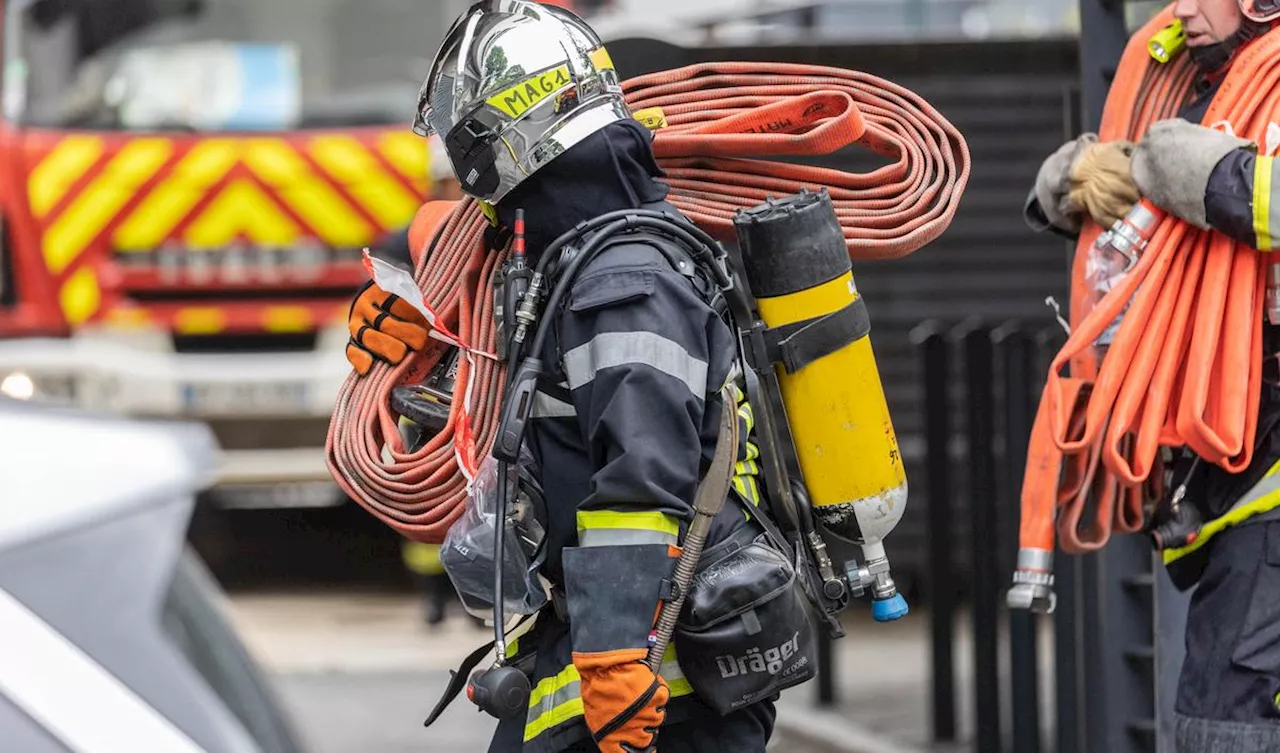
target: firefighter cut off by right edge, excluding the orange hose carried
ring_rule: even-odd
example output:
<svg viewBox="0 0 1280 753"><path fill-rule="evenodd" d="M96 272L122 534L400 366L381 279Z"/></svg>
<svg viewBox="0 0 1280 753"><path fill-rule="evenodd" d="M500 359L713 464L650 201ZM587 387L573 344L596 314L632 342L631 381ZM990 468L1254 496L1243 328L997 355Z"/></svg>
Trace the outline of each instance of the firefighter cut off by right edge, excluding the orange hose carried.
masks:
<svg viewBox="0 0 1280 753"><path fill-rule="evenodd" d="M1201 229L1270 251L1280 233L1280 166L1260 145L1201 122L1235 53L1280 19L1280 1L1178 0L1172 13L1199 69L1190 101L1137 143L1085 134L1061 147L1037 175L1028 223L1074 237L1085 213L1110 227L1142 196ZM1270 323L1261 346L1280 355ZM1165 552L1174 583L1197 584L1176 698L1178 749L1187 753L1280 750L1280 484L1272 475L1280 470L1280 370L1275 355L1267 362L1252 466L1229 474L1198 464L1187 499L1204 524L1192 546ZM1175 478L1194 465L1188 461Z"/></svg>

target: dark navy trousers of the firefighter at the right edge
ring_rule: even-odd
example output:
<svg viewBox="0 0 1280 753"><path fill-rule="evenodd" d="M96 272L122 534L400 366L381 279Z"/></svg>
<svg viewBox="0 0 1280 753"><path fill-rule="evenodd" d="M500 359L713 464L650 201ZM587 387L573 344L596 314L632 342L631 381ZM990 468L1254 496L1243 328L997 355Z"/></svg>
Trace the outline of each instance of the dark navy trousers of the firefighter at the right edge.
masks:
<svg viewBox="0 0 1280 753"><path fill-rule="evenodd" d="M1220 533L1187 615L1180 753L1280 750L1280 521Z"/></svg>

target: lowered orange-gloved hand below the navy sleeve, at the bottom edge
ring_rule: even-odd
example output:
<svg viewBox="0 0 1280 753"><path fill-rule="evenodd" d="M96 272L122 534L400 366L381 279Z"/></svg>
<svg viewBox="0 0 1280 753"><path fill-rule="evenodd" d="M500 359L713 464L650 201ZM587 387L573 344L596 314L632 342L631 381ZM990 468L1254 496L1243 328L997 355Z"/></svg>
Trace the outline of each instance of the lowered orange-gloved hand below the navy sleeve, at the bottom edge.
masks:
<svg viewBox="0 0 1280 753"><path fill-rule="evenodd" d="M603 753L636 753L657 741L671 690L644 663L646 653L643 648L573 653L582 713Z"/></svg>

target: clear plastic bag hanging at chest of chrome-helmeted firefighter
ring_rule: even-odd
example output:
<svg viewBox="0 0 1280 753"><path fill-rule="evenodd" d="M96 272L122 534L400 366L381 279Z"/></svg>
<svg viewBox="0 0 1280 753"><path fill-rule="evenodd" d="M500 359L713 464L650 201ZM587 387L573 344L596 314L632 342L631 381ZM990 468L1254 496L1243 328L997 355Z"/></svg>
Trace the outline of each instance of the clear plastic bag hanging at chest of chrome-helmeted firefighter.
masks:
<svg viewBox="0 0 1280 753"><path fill-rule="evenodd" d="M525 452L522 465L531 458ZM507 473L507 520L503 535L503 603L506 616L532 615L547 603L547 589L538 574L545 538L540 494L527 483L517 484L515 467ZM517 493L518 490L518 493ZM493 544L498 530L498 461L488 456L480 464L471 497L444 535L440 562L453 581L463 608L480 619L493 616Z"/></svg>

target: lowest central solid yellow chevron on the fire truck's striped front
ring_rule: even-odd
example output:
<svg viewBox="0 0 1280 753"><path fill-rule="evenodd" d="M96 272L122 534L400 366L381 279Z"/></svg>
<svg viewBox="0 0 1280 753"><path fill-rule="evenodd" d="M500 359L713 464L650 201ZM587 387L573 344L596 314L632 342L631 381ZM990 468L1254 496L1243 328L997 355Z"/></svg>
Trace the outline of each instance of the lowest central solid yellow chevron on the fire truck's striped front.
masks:
<svg viewBox="0 0 1280 753"><path fill-rule="evenodd" d="M298 225L247 179L228 183L183 238L196 248L218 248L243 234L255 243L285 245L298 237Z"/></svg>

